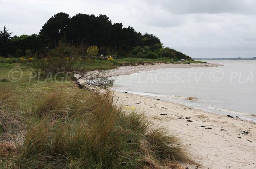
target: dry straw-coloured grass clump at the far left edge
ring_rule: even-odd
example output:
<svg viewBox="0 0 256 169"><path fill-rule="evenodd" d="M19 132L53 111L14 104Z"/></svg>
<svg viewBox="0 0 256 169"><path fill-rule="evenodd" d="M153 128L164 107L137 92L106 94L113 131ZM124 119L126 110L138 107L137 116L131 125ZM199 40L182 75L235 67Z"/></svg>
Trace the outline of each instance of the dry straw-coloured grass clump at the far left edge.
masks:
<svg viewBox="0 0 256 169"><path fill-rule="evenodd" d="M23 144L25 125L23 117L17 111L17 99L13 89L0 87L0 168L9 167L10 157L17 152L17 146ZM6 161L3 164L3 161ZM7 165L8 164L8 165Z"/></svg>

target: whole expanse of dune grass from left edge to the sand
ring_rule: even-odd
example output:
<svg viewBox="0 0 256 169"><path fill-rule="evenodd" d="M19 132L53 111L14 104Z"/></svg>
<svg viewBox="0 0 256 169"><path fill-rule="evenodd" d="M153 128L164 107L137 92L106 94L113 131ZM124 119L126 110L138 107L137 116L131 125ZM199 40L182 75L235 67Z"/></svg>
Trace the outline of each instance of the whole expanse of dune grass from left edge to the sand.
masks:
<svg viewBox="0 0 256 169"><path fill-rule="evenodd" d="M6 77L8 66L2 66ZM143 115L123 112L112 94L71 83L0 84L0 168L173 168L195 163L180 140Z"/></svg>

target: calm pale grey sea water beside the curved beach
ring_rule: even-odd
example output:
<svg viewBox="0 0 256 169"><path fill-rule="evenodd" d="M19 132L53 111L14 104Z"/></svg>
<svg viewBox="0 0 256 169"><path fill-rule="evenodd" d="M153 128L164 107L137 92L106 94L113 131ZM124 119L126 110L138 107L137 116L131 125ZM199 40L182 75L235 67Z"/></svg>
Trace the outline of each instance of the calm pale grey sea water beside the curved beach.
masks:
<svg viewBox="0 0 256 169"><path fill-rule="evenodd" d="M256 115L256 61L207 62L224 66L157 69L119 76L114 89L256 121L250 116Z"/></svg>

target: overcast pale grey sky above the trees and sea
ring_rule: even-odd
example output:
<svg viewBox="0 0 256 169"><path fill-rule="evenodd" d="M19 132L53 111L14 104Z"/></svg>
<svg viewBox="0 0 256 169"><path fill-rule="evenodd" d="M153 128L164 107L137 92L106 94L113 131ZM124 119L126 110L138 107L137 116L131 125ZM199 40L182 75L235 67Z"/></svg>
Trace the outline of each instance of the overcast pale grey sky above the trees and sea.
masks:
<svg viewBox="0 0 256 169"><path fill-rule="evenodd" d="M0 30L38 34L58 12L106 14L193 58L256 57L256 0L0 0Z"/></svg>

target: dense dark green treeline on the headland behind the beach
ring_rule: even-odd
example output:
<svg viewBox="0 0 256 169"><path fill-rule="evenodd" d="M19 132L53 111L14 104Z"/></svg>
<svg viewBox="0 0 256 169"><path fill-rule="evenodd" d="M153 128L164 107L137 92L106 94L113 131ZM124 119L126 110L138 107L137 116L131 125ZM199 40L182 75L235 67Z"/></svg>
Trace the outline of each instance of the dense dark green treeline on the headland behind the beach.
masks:
<svg viewBox="0 0 256 169"><path fill-rule="evenodd" d="M67 13L58 13L49 18L39 34L13 37L11 34L5 27L0 31L0 56L38 56L56 48L62 42L70 46L82 46L84 49L97 46L99 54L116 55L119 58L191 59L181 52L163 47L160 39L153 34L141 34L131 26L125 28L122 23L112 23L106 15L96 17L77 14L70 17Z"/></svg>

